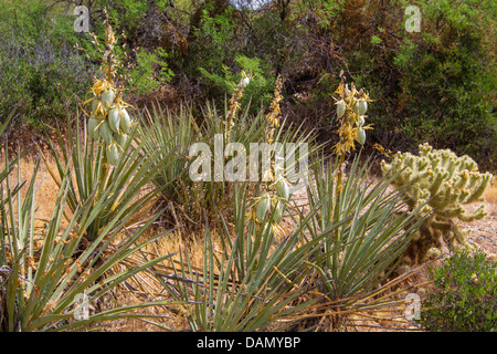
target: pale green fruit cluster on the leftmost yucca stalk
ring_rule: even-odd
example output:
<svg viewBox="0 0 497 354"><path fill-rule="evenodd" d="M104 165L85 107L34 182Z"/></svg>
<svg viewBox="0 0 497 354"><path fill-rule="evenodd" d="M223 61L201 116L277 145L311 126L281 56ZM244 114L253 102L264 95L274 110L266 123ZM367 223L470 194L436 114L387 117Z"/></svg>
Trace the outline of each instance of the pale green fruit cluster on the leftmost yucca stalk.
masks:
<svg viewBox="0 0 497 354"><path fill-rule="evenodd" d="M119 150L124 150L128 134L131 131L131 118L120 100L116 100L113 88L95 95L92 101L92 114L88 119L89 136L105 144L107 163L116 165Z"/></svg>

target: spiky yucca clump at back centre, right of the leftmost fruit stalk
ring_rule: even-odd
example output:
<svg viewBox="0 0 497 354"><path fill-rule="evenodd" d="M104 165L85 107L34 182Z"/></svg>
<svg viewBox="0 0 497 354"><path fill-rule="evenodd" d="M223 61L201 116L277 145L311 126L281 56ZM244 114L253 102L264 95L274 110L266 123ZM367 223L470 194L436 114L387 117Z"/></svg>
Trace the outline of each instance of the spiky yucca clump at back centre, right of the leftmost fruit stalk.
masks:
<svg viewBox="0 0 497 354"><path fill-rule="evenodd" d="M182 107L176 113L165 113L159 107L154 107L151 111L145 111L138 119L142 123L138 129L139 136L145 137L146 154L155 154L154 158L165 154L173 156L173 163L169 168L162 168L152 183L162 189L166 200L173 201L178 206L177 214L182 211L182 220L187 223L193 222L201 227L204 209L221 212L229 209L232 202L232 181L216 178L213 173L210 178L203 180L192 180L190 177L190 168L198 158L189 154L193 144L207 144L211 152L210 166L215 168L216 156L221 157L222 163L230 162L230 156L226 156L224 150L229 143L243 145L247 157L251 144L267 143L269 122L264 110L261 108L255 116L248 113L248 105L241 111L235 100L240 92L242 91L239 91L230 103L226 102L224 112L219 112L210 103L205 104L200 117L195 117L188 107ZM228 129L229 134L226 124L231 127ZM230 140L226 140L228 137ZM273 140L282 145L293 143L295 146L307 143L309 152L317 148L313 144L311 133L303 132L302 127L285 126L285 122L273 131ZM292 164L296 164L295 153L286 154L285 157L288 157L287 167L292 168ZM274 158L274 153L271 158ZM166 183L169 183L169 187L165 188Z"/></svg>

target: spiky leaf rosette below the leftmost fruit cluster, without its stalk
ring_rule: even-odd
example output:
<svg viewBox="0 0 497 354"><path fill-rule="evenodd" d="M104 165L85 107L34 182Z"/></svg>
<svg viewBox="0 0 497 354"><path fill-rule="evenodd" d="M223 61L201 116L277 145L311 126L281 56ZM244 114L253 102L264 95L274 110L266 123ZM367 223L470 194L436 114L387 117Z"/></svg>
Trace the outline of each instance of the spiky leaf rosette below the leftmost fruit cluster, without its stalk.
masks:
<svg viewBox="0 0 497 354"><path fill-rule="evenodd" d="M49 138L56 170L47 162L46 166L59 185L70 167L72 178L67 183L67 205L71 212L74 214L78 205L87 202L99 210L99 215L88 225L85 238L89 241L98 238L102 228L117 215L126 217L127 227L145 222L150 216L148 211L155 197L160 192L160 189L150 188L148 184L171 163L169 156L154 160L154 155L144 153L144 143L131 148L136 134L134 128L116 166L109 166L105 159L106 147L92 139L87 129L82 132L78 118L74 125L73 131L71 117L67 117L67 143L71 149L64 146L64 136L59 128L59 144Z"/></svg>

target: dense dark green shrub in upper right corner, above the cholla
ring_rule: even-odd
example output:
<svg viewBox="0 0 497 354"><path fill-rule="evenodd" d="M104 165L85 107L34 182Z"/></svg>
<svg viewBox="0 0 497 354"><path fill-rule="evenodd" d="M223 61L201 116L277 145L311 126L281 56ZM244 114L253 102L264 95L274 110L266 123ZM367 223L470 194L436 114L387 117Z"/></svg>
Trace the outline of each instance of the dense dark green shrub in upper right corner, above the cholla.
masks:
<svg viewBox="0 0 497 354"><path fill-rule="evenodd" d="M422 32L405 38L394 58L402 73L404 134L414 144L424 138L482 163L495 160L497 125L491 111L497 81L489 51L495 40L486 30L491 27L490 3L416 4L424 20Z"/></svg>

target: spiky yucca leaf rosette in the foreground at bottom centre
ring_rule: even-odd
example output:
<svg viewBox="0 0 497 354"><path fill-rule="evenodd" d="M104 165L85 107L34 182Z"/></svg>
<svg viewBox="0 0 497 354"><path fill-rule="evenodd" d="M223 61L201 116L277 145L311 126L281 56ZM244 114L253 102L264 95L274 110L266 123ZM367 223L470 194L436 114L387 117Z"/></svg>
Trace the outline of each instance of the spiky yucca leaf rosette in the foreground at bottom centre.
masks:
<svg viewBox="0 0 497 354"><path fill-rule="evenodd" d="M258 228L247 226L250 195L247 184L234 186L235 231L221 220L221 249L205 226L202 269L192 267L186 254L179 266L171 262L172 280L165 282L165 274L157 273L177 301L190 303L186 315L193 331L281 331L324 296L307 280L314 272L310 256L331 229L299 244L307 218L276 246L271 218Z"/></svg>

